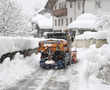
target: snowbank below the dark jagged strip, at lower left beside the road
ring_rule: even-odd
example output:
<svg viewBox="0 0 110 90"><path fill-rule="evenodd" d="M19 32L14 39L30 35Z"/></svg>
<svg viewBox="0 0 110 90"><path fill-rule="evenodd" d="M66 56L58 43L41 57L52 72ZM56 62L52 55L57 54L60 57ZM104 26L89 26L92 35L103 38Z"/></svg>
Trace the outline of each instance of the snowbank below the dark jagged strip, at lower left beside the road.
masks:
<svg viewBox="0 0 110 90"><path fill-rule="evenodd" d="M14 86L18 81L30 76L39 67L39 60L40 54L23 58L18 53L11 62L7 58L3 64L0 64L0 90Z"/></svg>

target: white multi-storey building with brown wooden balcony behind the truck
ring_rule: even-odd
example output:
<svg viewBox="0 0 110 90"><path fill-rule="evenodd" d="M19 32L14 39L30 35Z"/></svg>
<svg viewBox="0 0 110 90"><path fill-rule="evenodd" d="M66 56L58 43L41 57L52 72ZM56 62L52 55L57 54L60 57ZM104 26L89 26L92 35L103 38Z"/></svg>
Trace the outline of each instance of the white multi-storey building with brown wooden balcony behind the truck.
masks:
<svg viewBox="0 0 110 90"><path fill-rule="evenodd" d="M110 0L48 0L53 14L53 30L65 30L82 13L109 14Z"/></svg>

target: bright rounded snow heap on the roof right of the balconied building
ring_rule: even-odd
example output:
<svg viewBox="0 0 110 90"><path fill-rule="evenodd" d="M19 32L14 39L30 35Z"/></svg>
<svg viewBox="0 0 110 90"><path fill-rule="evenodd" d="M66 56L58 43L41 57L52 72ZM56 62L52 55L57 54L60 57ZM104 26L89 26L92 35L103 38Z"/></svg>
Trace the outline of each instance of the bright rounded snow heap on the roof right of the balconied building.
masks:
<svg viewBox="0 0 110 90"><path fill-rule="evenodd" d="M78 28L78 29L95 29L95 23L97 17L93 14L85 13L80 15L75 21L69 24L68 28Z"/></svg>

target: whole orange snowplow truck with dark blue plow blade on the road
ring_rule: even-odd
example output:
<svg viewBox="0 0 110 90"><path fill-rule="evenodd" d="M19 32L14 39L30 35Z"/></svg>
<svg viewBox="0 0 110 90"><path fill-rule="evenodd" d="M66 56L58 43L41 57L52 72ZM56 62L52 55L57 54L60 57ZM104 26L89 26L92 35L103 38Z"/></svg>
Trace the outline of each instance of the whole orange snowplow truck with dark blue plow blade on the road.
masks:
<svg viewBox="0 0 110 90"><path fill-rule="evenodd" d="M47 39L39 42L38 52L41 52L40 65L44 68L50 68L45 61L52 60L55 64L54 68L64 68L71 63L76 62L75 52L71 52L71 43L68 34L64 32L51 32L46 35ZM62 64L60 64L62 63Z"/></svg>

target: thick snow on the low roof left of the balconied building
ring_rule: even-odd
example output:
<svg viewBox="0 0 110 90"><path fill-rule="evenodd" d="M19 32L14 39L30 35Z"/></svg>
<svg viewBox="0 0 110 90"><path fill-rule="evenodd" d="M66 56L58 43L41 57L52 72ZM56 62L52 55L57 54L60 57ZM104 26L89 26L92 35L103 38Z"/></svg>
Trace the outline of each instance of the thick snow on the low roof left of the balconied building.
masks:
<svg viewBox="0 0 110 90"><path fill-rule="evenodd" d="M52 28L52 16L47 17L41 14L37 14L35 17L33 17L32 22L38 24L41 29Z"/></svg>

